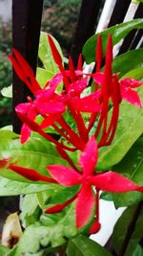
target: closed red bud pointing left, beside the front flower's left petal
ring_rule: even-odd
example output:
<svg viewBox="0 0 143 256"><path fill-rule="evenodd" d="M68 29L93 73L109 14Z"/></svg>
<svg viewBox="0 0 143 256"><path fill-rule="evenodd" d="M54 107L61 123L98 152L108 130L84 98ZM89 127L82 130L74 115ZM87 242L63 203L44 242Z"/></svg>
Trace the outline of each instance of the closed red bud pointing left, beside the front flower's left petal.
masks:
<svg viewBox="0 0 143 256"><path fill-rule="evenodd" d="M46 181L46 182L56 183L56 181L53 178L40 175L32 169L24 168L21 166L15 166L13 164L10 164L9 168L10 170L14 171L18 175L22 175L32 181Z"/></svg>

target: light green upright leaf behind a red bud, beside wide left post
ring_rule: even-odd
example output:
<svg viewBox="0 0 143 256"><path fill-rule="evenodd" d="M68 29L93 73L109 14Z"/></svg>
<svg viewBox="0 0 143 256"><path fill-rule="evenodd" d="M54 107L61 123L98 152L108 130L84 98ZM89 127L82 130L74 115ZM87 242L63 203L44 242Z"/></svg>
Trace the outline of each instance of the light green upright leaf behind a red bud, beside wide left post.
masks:
<svg viewBox="0 0 143 256"><path fill-rule="evenodd" d="M57 50L59 51L61 57L63 58L61 48L60 48L58 42L55 40L55 38L53 36L51 36L51 37L57 47ZM53 76L57 72L59 72L58 67L57 67L56 63L54 62L54 59L51 55L51 47L50 47L49 40L48 40L48 34L44 33L44 32L41 32L41 35L40 35L38 56L41 59L41 61L43 62L45 69L48 70L50 73L52 73Z"/></svg>

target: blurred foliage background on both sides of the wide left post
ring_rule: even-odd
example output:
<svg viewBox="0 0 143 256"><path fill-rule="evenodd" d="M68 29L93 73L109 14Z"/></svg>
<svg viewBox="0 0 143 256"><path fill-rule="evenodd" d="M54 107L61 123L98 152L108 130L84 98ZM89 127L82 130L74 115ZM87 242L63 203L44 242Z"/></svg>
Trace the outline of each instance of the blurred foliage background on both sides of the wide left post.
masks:
<svg viewBox="0 0 143 256"><path fill-rule="evenodd" d="M53 35L69 56L81 0L45 0L41 30ZM0 0L0 91L11 82L11 0ZM0 93L0 128L11 124L11 99Z"/></svg>

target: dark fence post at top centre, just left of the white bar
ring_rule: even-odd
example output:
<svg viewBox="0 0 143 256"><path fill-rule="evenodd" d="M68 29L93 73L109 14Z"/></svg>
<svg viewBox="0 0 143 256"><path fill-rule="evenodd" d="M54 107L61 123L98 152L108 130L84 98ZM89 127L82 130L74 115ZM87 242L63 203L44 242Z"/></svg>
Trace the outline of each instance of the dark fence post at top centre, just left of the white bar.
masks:
<svg viewBox="0 0 143 256"><path fill-rule="evenodd" d="M82 0L71 51L75 66L85 42L94 33L95 22L99 16L101 4L102 0Z"/></svg>

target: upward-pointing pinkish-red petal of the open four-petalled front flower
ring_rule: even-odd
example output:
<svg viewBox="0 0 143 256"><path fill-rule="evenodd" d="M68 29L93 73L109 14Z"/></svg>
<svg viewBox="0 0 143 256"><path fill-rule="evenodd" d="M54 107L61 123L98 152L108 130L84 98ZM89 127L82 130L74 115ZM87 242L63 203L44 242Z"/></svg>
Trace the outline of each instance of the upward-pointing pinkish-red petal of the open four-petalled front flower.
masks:
<svg viewBox="0 0 143 256"><path fill-rule="evenodd" d="M82 152L79 164L84 171L84 175L92 175L98 158L97 143L92 136Z"/></svg>

